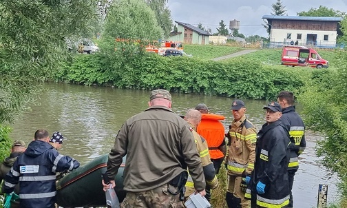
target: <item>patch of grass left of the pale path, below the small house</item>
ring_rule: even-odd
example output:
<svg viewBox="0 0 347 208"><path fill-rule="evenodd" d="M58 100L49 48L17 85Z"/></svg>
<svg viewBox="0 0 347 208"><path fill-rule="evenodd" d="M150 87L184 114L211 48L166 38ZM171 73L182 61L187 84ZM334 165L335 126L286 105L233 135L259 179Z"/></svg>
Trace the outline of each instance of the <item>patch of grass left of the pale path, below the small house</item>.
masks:
<svg viewBox="0 0 347 208"><path fill-rule="evenodd" d="M225 56L243 50L238 47L228 45L183 45L184 51L187 54L192 54L193 57L200 59L213 59L220 56Z"/></svg>

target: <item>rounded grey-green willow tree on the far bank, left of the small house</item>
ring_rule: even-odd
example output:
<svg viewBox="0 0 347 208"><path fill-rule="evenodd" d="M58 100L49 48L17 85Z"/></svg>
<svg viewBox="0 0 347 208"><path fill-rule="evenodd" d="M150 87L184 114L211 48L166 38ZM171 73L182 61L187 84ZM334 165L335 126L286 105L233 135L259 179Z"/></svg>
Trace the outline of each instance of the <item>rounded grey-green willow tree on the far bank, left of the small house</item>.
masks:
<svg viewBox="0 0 347 208"><path fill-rule="evenodd" d="M107 51L123 54L143 52L144 45L157 41L162 35L156 15L145 1L117 0L105 19L102 46Z"/></svg>

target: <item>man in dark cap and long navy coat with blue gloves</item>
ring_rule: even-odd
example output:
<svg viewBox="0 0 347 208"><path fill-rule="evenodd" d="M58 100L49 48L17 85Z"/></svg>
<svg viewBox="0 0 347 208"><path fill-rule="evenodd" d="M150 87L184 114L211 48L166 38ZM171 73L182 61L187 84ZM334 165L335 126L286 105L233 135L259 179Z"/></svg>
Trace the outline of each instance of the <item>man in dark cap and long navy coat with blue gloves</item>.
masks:
<svg viewBox="0 0 347 208"><path fill-rule="evenodd" d="M251 207L288 207L289 183L288 130L282 124L282 108L272 102L264 106L266 123L257 134L255 165L251 177L246 177L249 187L245 198L251 198Z"/></svg>

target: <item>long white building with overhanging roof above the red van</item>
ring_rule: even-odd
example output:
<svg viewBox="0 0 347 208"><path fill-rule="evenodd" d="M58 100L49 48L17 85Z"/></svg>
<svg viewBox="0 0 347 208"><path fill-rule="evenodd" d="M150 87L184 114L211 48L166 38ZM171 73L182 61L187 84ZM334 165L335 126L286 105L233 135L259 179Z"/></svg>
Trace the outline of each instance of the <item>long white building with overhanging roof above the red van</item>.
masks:
<svg viewBox="0 0 347 208"><path fill-rule="evenodd" d="M272 43L335 47L341 17L264 15Z"/></svg>

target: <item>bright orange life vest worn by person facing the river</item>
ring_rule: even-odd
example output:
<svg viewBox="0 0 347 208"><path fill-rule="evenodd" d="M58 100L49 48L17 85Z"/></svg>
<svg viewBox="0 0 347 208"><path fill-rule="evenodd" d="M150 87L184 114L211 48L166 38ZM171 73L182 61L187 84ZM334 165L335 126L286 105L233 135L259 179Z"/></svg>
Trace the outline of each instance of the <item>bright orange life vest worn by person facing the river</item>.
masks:
<svg viewBox="0 0 347 208"><path fill-rule="evenodd" d="M211 159L223 158L224 154L218 147L224 141L224 126L219 120L224 120L225 117L216 114L201 114L201 122L198 125L197 131L209 145L209 154Z"/></svg>

